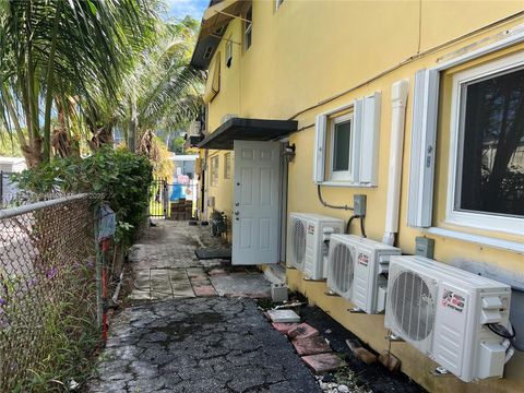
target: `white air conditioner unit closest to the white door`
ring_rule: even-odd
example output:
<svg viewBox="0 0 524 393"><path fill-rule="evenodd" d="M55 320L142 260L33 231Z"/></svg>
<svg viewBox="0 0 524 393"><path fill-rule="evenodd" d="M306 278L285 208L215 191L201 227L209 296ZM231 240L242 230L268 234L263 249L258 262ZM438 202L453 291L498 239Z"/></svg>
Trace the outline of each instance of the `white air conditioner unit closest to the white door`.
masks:
<svg viewBox="0 0 524 393"><path fill-rule="evenodd" d="M344 221L311 213L290 213L288 258L291 266L309 279L326 277L331 234L344 233Z"/></svg>

